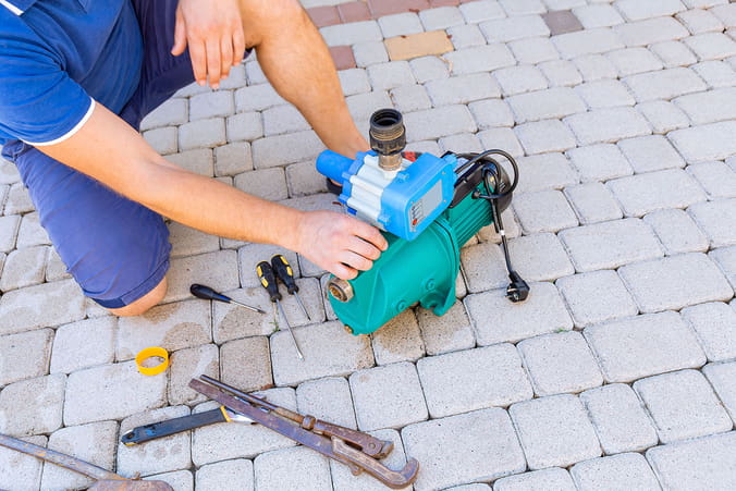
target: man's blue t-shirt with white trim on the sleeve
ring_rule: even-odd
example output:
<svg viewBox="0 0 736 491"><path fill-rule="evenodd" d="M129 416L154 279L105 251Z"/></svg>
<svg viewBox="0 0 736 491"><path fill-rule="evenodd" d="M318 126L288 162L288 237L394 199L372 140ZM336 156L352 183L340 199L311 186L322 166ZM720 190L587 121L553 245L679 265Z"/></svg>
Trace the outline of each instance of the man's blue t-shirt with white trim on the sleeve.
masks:
<svg viewBox="0 0 736 491"><path fill-rule="evenodd" d="M95 101L119 113L142 64L130 0L0 0L0 145L62 142Z"/></svg>

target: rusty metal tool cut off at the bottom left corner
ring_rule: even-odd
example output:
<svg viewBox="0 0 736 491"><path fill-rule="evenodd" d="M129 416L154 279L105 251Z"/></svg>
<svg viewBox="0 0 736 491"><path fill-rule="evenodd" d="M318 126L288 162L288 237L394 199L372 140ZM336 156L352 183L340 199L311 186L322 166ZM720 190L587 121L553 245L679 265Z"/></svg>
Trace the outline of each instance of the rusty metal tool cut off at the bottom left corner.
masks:
<svg viewBox="0 0 736 491"><path fill-rule="evenodd" d="M171 486L163 481L142 481L137 479L127 479L111 472L88 462L72 457L71 455L54 452L33 443L8 437L0 433L0 445L13 449L24 454L33 455L40 459L53 463L58 466L84 474L97 482L90 490L95 491L173 491Z"/></svg>

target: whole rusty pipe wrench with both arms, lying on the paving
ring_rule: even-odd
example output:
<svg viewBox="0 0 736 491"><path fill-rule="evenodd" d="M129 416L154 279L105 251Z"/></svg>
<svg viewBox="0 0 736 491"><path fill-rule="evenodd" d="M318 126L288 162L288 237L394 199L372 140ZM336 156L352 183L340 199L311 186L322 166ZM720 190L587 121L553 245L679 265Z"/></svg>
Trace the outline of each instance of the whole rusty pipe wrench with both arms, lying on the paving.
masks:
<svg viewBox="0 0 736 491"><path fill-rule="evenodd" d="M209 377L203 376L200 379L192 379L192 381L189 381L189 386L207 397L247 416L254 421L281 433L286 438L345 464L354 476L366 471L393 489L401 489L409 486L417 478L419 463L415 458L410 458L403 469L392 470L364 451L360 443L356 443L356 440L363 440L360 438L356 439L355 433L372 439L372 437L368 434L338 427L336 425L327 427L329 430L326 429L324 426L320 426L321 430L318 430L317 419L310 418L309 416L302 416L278 406L273 406L274 409L268 412L261 410L259 407L256 407L256 405L246 402L245 397L243 397L243 395L248 397L253 396L243 394L237 391L237 389L233 389L222 382L210 379ZM255 400L258 401L256 404L260 407L267 407L265 404L269 404L257 397L255 397ZM279 413L277 413L277 407L280 409ZM284 410L287 413L284 413ZM292 417L283 416L283 414L289 413L291 413ZM296 419L294 419L294 417L296 417ZM302 418L302 422L298 422L299 418ZM298 425L295 422L298 422ZM319 422L329 425L323 424L323 421ZM344 433L344 430L349 430L349 433ZM370 447L370 445L368 446ZM390 451L391 449L385 442L381 442L379 446L381 450L378 452L377 456L383 456L387 450Z"/></svg>

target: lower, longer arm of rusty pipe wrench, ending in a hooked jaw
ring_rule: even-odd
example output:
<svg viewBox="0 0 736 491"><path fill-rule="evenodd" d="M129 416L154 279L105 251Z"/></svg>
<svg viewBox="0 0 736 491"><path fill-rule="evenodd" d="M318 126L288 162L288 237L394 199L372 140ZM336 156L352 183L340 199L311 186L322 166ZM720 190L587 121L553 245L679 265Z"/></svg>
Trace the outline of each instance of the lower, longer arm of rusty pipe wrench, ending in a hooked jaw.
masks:
<svg viewBox="0 0 736 491"><path fill-rule="evenodd" d="M209 378L208 378L209 379ZM203 379L207 380L207 379ZM419 463L415 458L409 458L401 470L392 470L385 467L376 458L358 450L335 434L318 433L316 430L308 430L300 425L295 425L295 420L287 417L280 417L275 410L265 412L260 408L245 402L243 398L231 395L235 394L229 389L229 385L222 386L207 383L199 379L192 379L189 386L200 394L219 402L220 404L257 421L271 430L283 434L305 446L308 446L322 455L345 464L354 476L365 471L389 488L401 489L409 486L417 478ZM209 379L214 381L213 379ZM217 381L214 381L217 382ZM229 394L228 392L231 392ZM240 392L240 391L237 391ZM247 394L246 394L247 395ZM261 407L266 407L262 406ZM282 408L283 409L283 408ZM300 415L299 415L300 416Z"/></svg>

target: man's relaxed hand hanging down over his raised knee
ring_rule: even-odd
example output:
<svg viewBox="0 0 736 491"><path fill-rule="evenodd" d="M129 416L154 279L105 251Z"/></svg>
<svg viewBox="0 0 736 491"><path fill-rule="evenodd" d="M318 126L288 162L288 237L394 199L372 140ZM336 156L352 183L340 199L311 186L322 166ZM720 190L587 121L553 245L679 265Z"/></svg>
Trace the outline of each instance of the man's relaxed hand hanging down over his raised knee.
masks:
<svg viewBox="0 0 736 491"><path fill-rule="evenodd" d="M245 37L236 0L181 0L176 8L173 56L189 47L194 77L213 89L243 61Z"/></svg>

